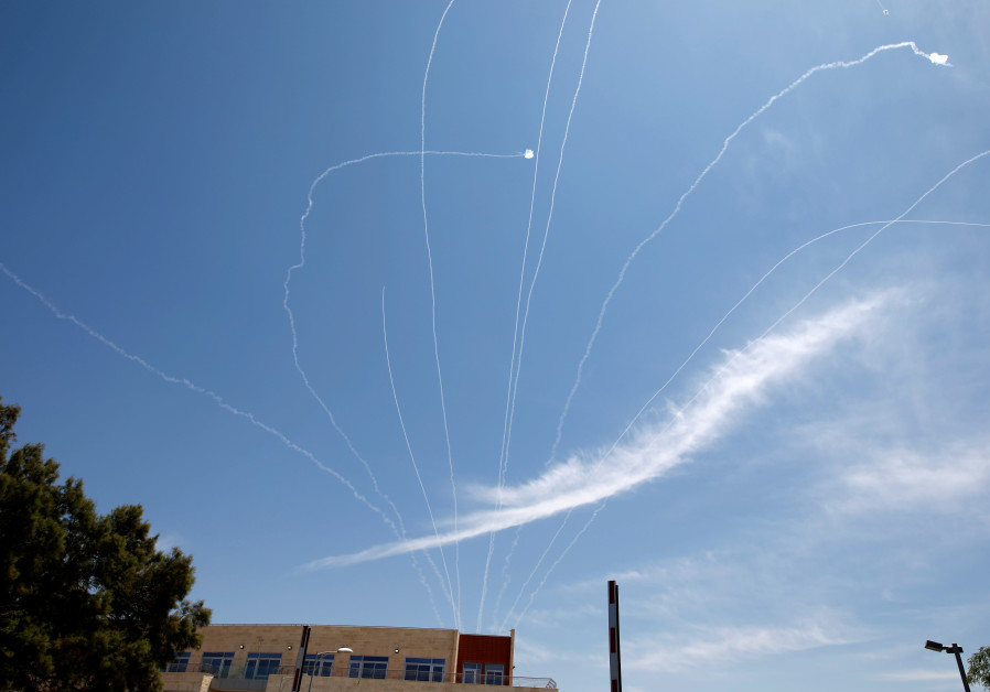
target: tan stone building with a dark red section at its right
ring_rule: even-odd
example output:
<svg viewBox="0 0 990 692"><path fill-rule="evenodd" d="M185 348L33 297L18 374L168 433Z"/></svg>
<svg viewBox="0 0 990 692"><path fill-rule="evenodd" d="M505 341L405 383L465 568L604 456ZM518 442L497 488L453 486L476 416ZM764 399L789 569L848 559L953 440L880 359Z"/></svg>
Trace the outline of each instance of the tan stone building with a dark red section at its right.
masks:
<svg viewBox="0 0 990 692"><path fill-rule="evenodd" d="M412 627L211 625L200 634L200 649L180 653L162 672L165 692L557 688L550 678L514 673L515 630L506 637Z"/></svg>

